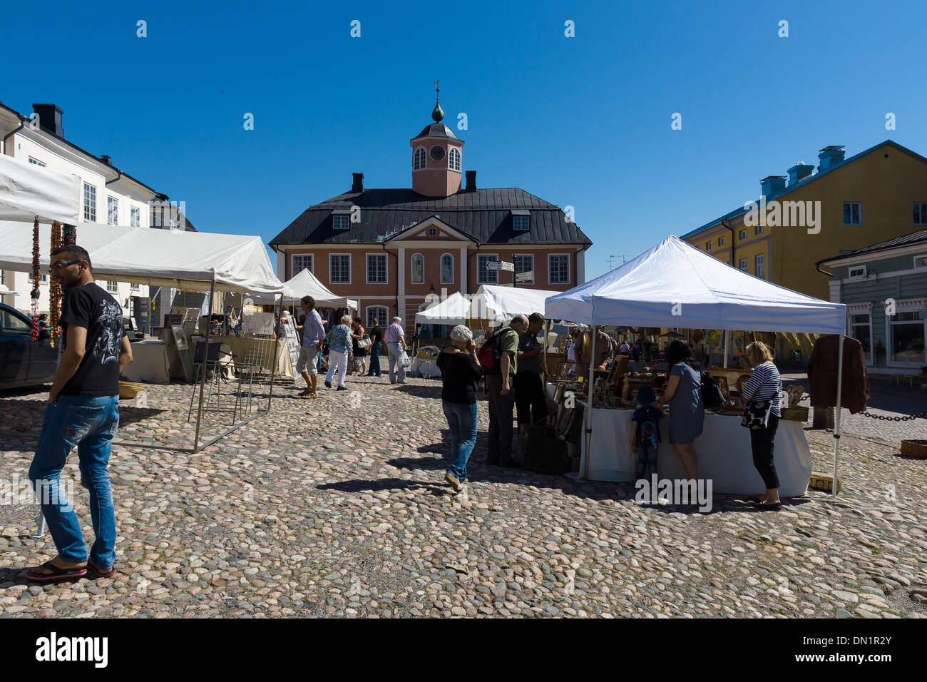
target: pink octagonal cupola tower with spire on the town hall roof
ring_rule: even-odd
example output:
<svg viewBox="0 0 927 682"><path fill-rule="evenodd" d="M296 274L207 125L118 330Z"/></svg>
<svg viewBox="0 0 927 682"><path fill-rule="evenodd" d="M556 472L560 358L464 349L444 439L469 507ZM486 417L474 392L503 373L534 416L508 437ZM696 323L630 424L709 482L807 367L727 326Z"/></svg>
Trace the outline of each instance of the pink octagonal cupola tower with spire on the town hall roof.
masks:
<svg viewBox="0 0 927 682"><path fill-rule="evenodd" d="M434 121L412 139L412 188L425 197L450 197L461 188L464 141L441 121L444 110L435 82Z"/></svg>

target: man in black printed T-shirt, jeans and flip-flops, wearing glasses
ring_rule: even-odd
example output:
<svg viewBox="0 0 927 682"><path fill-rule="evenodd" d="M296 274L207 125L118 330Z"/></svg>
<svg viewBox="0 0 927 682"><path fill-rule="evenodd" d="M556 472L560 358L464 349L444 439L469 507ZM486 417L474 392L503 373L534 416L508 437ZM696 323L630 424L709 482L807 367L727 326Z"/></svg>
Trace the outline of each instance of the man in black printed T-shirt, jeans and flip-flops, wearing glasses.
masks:
<svg viewBox="0 0 927 682"><path fill-rule="evenodd" d="M58 554L26 573L36 582L73 580L88 568L102 577L115 573L116 517L107 466L119 427L119 375L132 362L132 347L122 333L120 304L95 284L91 268L89 254L79 246L52 251L51 275L64 290L64 353L48 393L29 478ZM60 484L75 446L96 537L89 560L81 522Z"/></svg>

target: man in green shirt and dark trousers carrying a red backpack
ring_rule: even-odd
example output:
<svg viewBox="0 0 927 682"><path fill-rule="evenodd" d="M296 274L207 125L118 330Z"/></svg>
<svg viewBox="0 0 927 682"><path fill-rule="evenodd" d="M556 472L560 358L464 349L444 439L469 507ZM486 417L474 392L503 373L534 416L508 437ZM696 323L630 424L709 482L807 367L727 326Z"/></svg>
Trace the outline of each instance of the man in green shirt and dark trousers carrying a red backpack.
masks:
<svg viewBox="0 0 927 682"><path fill-rule="evenodd" d="M495 343L493 365L486 370L489 393L489 464L515 467L512 458L512 419L515 395L512 379L518 369L518 341L527 331L527 317L515 315L508 327L496 331L487 343Z"/></svg>

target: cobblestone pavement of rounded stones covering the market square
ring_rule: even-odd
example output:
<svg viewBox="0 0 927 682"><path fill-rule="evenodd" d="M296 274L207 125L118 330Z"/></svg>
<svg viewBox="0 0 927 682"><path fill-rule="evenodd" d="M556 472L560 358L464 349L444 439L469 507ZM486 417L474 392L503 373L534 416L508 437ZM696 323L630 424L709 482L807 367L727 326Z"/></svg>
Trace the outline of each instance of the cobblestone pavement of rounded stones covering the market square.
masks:
<svg viewBox="0 0 927 682"><path fill-rule="evenodd" d="M836 499L777 513L718 496L699 514L638 506L629 484L486 467L481 403L473 483L451 496L438 383L349 388L275 387L271 415L197 455L114 446L112 578L26 584L55 548L28 537L34 506L0 506L0 617L927 615L927 461L889 438L844 437ZM123 402L121 437L182 444L188 396L149 386L147 407ZM0 479L26 475L46 397L0 397ZM831 434L806 433L830 470ZM64 476L78 480L76 456Z"/></svg>

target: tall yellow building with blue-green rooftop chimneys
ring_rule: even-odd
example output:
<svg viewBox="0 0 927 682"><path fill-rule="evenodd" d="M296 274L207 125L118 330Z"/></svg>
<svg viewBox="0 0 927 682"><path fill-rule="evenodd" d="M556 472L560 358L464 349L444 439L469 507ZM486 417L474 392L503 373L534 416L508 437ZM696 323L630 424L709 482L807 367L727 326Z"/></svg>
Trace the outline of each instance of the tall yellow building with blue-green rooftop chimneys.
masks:
<svg viewBox="0 0 927 682"><path fill-rule="evenodd" d="M820 261L927 225L927 159L891 140L849 159L842 146L825 147L818 158L817 169L790 168L788 182L763 178L760 199L682 238L751 275L829 300Z"/></svg>

